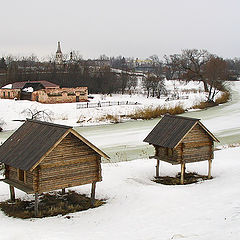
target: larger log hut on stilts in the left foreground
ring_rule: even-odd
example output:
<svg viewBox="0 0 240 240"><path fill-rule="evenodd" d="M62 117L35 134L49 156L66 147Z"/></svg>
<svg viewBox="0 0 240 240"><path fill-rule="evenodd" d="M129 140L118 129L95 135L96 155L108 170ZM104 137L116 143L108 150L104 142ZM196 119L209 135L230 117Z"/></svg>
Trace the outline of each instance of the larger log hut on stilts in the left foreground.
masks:
<svg viewBox="0 0 240 240"><path fill-rule="evenodd" d="M72 127L26 120L0 147L0 162L5 165L5 183L35 194L92 184L94 204L96 182L102 180L101 157L109 158Z"/></svg>

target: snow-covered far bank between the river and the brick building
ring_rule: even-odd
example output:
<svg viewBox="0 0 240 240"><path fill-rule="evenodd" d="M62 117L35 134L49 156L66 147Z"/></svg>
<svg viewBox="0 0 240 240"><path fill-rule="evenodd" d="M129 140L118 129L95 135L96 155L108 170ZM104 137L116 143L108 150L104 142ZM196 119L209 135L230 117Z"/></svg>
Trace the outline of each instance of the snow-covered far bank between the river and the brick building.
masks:
<svg viewBox="0 0 240 240"><path fill-rule="evenodd" d="M179 81L166 81L166 89L169 91L169 96L178 91L179 97L187 96L188 99L165 101L166 97L147 98L146 95L92 95L91 102L117 102L128 101L139 103L140 105L124 105L124 106L111 106L111 107L98 107L77 109L79 103L64 103L64 104L41 104L27 100L14 101L7 99L0 99L0 121L5 122L3 125L4 130L14 130L22 123L12 120L26 119L30 117L24 110L30 109L31 111L45 110L51 115L53 122L70 125L70 126L86 126L96 125L100 122L99 119L107 114L114 116L128 115L133 113L137 108L157 107L157 106L175 106L182 104L184 108L190 108L192 105L205 100L205 93L202 91L202 83L189 82L188 84ZM79 120L79 123L77 123ZM106 123L106 122L105 122ZM107 122L108 123L108 122Z"/></svg>

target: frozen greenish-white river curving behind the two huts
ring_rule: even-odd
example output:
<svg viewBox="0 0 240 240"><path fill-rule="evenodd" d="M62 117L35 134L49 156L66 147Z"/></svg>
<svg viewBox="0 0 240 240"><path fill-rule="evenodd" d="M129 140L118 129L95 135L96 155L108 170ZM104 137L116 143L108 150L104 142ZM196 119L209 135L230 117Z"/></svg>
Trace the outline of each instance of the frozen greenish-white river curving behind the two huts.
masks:
<svg viewBox="0 0 240 240"><path fill-rule="evenodd" d="M230 102L207 110L182 114L201 119L201 122L220 140L218 145L240 143L240 82L233 83L231 89ZM106 152L112 162L129 161L153 154L153 147L143 143L143 139L158 121L159 119L129 121L74 129ZM0 141L4 141L12 132L0 133Z"/></svg>

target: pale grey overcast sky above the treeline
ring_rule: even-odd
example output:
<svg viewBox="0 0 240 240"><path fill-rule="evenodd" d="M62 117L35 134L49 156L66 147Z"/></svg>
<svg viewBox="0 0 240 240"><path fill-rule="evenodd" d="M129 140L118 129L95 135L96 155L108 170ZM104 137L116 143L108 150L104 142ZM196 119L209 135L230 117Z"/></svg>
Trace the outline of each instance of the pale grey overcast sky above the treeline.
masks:
<svg viewBox="0 0 240 240"><path fill-rule="evenodd" d="M207 49L240 57L240 0L1 1L0 56L79 50L146 58Z"/></svg>

